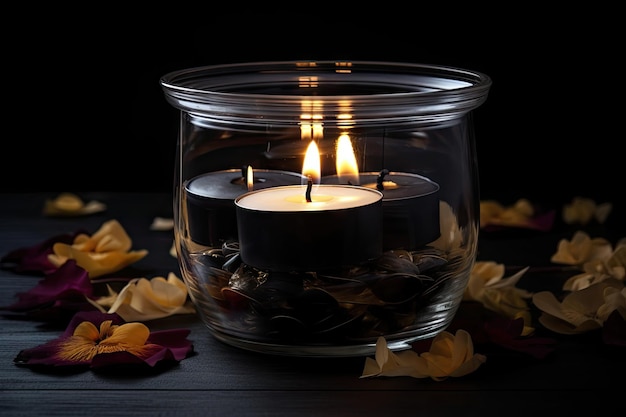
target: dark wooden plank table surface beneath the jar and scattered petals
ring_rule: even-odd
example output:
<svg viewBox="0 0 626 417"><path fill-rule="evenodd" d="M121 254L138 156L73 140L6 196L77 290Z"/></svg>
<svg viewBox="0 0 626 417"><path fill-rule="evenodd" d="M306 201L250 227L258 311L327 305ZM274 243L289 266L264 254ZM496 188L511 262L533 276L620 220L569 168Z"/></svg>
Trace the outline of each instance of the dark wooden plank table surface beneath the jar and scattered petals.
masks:
<svg viewBox="0 0 626 417"><path fill-rule="evenodd" d="M103 213L72 218L42 215L46 198L24 193L0 196L0 256L52 236L84 229L95 232L117 219L134 249L149 254L133 265L145 276L175 272L168 254L172 231L153 231L159 217L171 217L171 197L158 193L90 193L85 200L107 205ZM505 265L549 264L549 257L571 230L550 233L481 234L479 259ZM543 263L543 264L542 264ZM531 272L518 284L558 288L559 274ZM0 305L16 301L41 276L0 271ZM472 306L461 306L457 316ZM263 355L225 345L212 337L195 315L154 320L150 330L188 328L195 354L160 373L49 374L18 367L22 349L58 337L64 328L25 320L13 313L0 317L0 415L62 416L516 416L530 413L599 415L624 410L626 350L602 343L598 332L555 335L557 349L546 358L475 346L487 361L476 372L444 381L410 377L360 378L365 358L292 358ZM620 405L621 404L621 405ZM557 414L555 414L557 415Z"/></svg>

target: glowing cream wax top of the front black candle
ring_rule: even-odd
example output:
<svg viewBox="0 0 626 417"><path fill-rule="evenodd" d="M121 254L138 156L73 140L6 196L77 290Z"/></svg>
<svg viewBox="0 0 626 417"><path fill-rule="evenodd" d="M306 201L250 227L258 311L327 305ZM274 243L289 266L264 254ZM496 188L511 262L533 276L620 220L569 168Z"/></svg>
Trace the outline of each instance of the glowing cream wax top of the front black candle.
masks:
<svg viewBox="0 0 626 417"><path fill-rule="evenodd" d="M311 201L306 200L306 186L266 188L245 194L236 200L237 205L248 210L297 212L345 210L376 203L380 192L349 185L314 185Z"/></svg>

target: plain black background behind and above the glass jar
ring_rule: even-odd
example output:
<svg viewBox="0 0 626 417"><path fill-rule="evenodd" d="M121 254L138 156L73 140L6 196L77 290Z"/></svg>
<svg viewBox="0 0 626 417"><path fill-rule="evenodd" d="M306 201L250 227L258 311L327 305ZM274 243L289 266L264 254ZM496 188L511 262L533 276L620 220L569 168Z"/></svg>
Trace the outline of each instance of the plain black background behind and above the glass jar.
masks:
<svg viewBox="0 0 626 417"><path fill-rule="evenodd" d="M54 6L5 16L1 190L170 191L178 113L159 84L167 72L376 60L493 79L474 114L482 199L559 206L584 196L623 209L617 10L314 6Z"/></svg>

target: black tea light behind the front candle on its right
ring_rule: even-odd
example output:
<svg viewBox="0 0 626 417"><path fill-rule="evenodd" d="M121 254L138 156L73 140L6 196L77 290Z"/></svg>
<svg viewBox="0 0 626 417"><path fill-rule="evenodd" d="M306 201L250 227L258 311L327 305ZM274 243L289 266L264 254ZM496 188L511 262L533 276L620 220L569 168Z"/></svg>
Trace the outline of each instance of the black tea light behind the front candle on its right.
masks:
<svg viewBox="0 0 626 417"><path fill-rule="evenodd" d="M338 176L323 177L337 184ZM413 250L436 240L439 230L439 185L427 177L407 172L359 173L365 188L383 194L384 249Z"/></svg>

